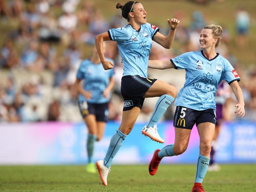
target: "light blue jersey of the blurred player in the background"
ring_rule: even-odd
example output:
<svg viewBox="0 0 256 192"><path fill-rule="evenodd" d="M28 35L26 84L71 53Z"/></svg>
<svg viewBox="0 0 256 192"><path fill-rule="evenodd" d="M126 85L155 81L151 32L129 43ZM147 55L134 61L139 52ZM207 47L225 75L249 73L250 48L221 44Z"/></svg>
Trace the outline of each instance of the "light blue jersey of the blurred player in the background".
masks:
<svg viewBox="0 0 256 192"><path fill-rule="evenodd" d="M106 58L114 63L113 60ZM110 99L103 96L103 91L109 84L109 78L114 75L114 69L104 70L101 63L92 63L86 59L81 64L77 71L77 78L84 80L84 90L91 91L92 97L88 100L83 95L78 96L79 101L87 101L88 103L107 103Z"/></svg>

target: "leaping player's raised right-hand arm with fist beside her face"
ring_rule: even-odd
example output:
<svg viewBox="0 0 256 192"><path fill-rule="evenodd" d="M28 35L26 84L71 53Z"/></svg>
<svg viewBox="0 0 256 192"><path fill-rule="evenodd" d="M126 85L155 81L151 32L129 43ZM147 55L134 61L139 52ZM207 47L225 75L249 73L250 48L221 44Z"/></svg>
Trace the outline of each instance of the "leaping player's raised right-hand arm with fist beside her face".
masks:
<svg viewBox="0 0 256 192"><path fill-rule="evenodd" d="M179 20L172 18L171 20L167 19L167 21L170 26L170 31L167 37L165 37L160 32L157 32L153 38L153 41L159 45L162 45L164 48L171 48L174 41L176 28L179 26Z"/></svg>

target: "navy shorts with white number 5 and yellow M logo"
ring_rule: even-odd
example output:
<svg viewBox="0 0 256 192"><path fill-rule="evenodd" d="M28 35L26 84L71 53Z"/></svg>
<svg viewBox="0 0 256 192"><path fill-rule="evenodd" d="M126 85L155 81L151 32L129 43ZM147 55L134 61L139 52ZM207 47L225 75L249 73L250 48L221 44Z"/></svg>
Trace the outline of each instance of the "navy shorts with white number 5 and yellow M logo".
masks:
<svg viewBox="0 0 256 192"><path fill-rule="evenodd" d="M206 109L202 111L191 108L177 106L174 113L173 126L183 129L192 129L200 123L210 122L216 124L216 116L214 109Z"/></svg>

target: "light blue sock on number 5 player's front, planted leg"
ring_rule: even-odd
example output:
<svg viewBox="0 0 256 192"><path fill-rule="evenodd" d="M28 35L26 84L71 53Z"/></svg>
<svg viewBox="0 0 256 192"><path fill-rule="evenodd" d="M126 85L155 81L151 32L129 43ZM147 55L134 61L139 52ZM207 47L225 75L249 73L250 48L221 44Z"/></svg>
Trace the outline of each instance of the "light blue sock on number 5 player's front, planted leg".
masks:
<svg viewBox="0 0 256 192"><path fill-rule="evenodd" d="M196 164L196 181L195 183L202 183L204 176L206 175L206 171L209 166L210 159L205 157L204 155L199 154L198 161Z"/></svg>

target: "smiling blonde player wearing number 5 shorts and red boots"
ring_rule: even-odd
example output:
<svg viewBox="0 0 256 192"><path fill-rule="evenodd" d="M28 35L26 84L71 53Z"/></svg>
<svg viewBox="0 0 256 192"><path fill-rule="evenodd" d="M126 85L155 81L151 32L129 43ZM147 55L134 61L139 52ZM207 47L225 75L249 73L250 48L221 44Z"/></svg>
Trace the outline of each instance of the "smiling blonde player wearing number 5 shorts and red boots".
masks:
<svg viewBox="0 0 256 192"><path fill-rule="evenodd" d="M174 144L155 150L149 163L150 175L155 175L163 157L184 153L189 144L192 127L196 123L200 137L200 154L196 167L196 179L192 192L204 192L202 181L209 166L211 142L216 123L215 94L222 80L230 84L238 103L235 114L245 115L242 90L238 85L239 75L232 65L215 52L222 36L220 26L208 25L200 34L200 51L186 52L166 61L149 61L154 69L185 69L186 81L175 101Z"/></svg>

